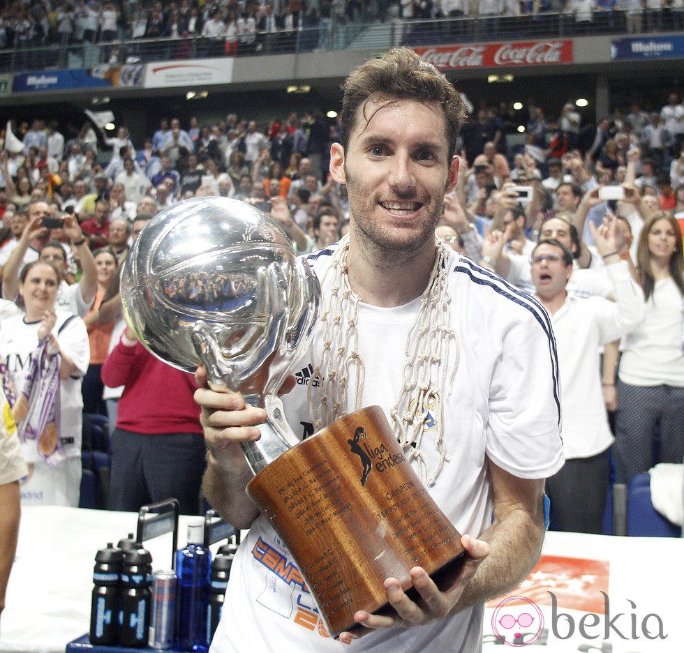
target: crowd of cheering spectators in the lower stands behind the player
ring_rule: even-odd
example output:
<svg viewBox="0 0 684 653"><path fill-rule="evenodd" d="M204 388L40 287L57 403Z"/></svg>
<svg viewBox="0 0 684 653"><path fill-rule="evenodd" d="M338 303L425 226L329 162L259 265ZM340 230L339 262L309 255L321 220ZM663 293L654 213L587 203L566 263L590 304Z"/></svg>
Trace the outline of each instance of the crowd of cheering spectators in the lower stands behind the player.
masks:
<svg viewBox="0 0 684 653"><path fill-rule="evenodd" d="M588 343L604 346L602 368L597 347L595 360L560 338L559 348L565 352L562 361L590 357L589 371L582 374L593 375L592 387L615 414L615 423L609 430L606 411L600 410L591 417L597 424L587 424L581 405L569 404L564 442L567 458L598 457L604 469L614 433L616 480L627 482L657 460L681 463L684 456L684 263L677 222L684 223L684 104L671 93L657 110L646 112L634 103L588 126L574 105L547 117L530 101L528 112L526 143L509 149L507 135L514 130L509 107L480 103L473 109L461 133L459 183L445 197L437 234L463 256L535 294L544 306L557 273L553 266L564 257L560 275L565 270L567 277L560 278L558 292L565 293L567 283L567 297L577 301L614 300L608 302L618 306L613 322L601 333L624 336L620 349L604 337L587 336ZM12 382L9 392L6 387L10 403L21 396L29 404L36 400L31 388L22 395L27 360L59 352L63 361L61 370L53 366L50 372L59 377L66 402L61 440L54 430L59 411L47 412L48 421L38 430L38 454L31 444L31 463L41 470L31 482L45 483L56 469L66 475L41 500L77 502L77 462L52 466L58 458L77 457L80 416L65 417L75 410L110 419L113 508L135 510L180 493L182 479L191 487L183 495L184 510L194 511L199 487L188 486L181 467L201 471L203 464L199 410L192 402L195 382L150 356L127 327L117 269L158 211L203 195L235 197L269 212L299 253L329 246L349 226L345 187L327 174L330 144L338 137L336 121L318 112L291 113L261 126L235 114L214 123L171 117L136 143L125 126L110 137L89 122L67 137L57 123L42 119L16 124L5 134L0 308L12 319L0 322L0 348ZM625 305L631 306L631 322L615 317L632 292L625 285L629 275L616 276L613 264L621 262L646 299L643 315L634 302ZM10 305L17 297L23 309ZM547 308L552 322L564 315L560 309L555 313L553 304ZM562 378L567 374L561 369ZM571 380L566 384L572 386ZM588 385L580 385L578 392L586 394ZM55 401L59 393L57 400L52 396ZM17 421L22 414L17 408ZM582 434L594 426L600 436L587 442ZM602 514L607 472L596 478L598 486L588 490L587 483L585 490ZM558 506L565 506L558 508L559 527L597 530L596 518L574 520L572 506L581 502L556 494Z"/></svg>

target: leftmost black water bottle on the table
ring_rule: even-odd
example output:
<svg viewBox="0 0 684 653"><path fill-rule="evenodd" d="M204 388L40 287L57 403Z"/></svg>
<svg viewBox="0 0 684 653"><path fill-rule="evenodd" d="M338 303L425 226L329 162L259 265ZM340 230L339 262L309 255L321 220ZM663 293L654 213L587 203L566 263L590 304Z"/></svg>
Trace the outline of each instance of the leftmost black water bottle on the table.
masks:
<svg viewBox="0 0 684 653"><path fill-rule="evenodd" d="M123 562L124 553L111 542L95 555L90 610L90 643L93 645L113 646L119 641Z"/></svg>

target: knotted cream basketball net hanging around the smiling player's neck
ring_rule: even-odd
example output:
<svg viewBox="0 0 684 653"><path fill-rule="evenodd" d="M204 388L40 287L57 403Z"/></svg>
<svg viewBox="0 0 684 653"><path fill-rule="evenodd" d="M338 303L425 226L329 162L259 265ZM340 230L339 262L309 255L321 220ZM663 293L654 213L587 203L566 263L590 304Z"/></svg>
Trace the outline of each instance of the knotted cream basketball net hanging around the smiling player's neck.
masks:
<svg viewBox="0 0 684 653"><path fill-rule="evenodd" d="M444 401L451 393L459 365L459 338L449 320L448 250L441 241L435 244L435 263L406 338L401 392L388 416L399 445L409 460L417 462L426 486L435 482L445 460L449 460L444 440ZM366 368L358 350L359 297L349 285L348 250L346 235L321 284L325 287L329 282L330 291L324 291L322 298L322 347L318 356L312 352L313 374L308 383L309 413L315 430L348 414L348 405L349 412L362 408ZM428 410L436 423L439 460L435 470L428 468L421 450Z"/></svg>

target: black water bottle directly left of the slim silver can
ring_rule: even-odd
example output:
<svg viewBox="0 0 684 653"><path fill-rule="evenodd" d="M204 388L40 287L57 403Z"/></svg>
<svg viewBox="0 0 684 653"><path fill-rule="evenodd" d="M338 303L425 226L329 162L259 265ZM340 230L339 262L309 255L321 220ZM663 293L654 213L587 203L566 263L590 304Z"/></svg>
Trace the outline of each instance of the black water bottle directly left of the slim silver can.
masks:
<svg viewBox="0 0 684 653"><path fill-rule="evenodd" d="M138 545L124 553L121 570L121 611L119 612L119 645L147 646L152 592L152 556Z"/></svg>

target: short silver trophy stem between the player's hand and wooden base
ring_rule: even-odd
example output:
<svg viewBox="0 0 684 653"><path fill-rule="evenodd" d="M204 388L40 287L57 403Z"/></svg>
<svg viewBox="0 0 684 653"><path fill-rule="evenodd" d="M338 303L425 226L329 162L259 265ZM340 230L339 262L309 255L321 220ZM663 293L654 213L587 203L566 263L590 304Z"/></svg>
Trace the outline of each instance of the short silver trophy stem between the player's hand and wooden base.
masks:
<svg viewBox="0 0 684 653"><path fill-rule="evenodd" d="M266 421L257 425L261 432L259 440L240 443L247 464L256 476L299 440L285 421L283 404L278 397L267 396L263 399L258 395L246 395L244 400L249 405L265 407L267 413Z"/></svg>

